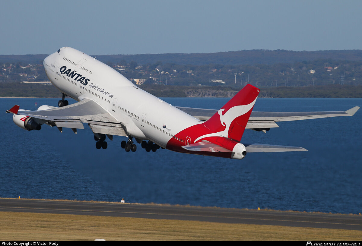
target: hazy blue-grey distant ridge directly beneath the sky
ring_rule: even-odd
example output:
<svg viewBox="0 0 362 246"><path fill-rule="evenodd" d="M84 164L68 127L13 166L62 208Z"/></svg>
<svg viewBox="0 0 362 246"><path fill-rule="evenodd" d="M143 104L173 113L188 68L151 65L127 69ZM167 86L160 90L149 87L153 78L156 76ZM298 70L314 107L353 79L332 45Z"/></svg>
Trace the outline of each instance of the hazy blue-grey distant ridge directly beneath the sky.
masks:
<svg viewBox="0 0 362 246"><path fill-rule="evenodd" d="M0 63L39 64L47 55L0 55ZM161 61L179 65L243 65L275 64L303 62L315 59L333 59L361 61L362 50L323 50L323 51L289 51L289 50L241 50L216 53L191 54L138 54L138 55L92 55L106 64L136 63L143 65Z"/></svg>

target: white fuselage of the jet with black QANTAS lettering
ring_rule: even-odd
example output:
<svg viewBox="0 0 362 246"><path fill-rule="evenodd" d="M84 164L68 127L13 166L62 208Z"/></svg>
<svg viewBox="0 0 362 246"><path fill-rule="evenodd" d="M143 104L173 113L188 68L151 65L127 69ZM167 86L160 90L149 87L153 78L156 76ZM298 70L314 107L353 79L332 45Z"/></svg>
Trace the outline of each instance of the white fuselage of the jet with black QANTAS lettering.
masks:
<svg viewBox="0 0 362 246"><path fill-rule="evenodd" d="M63 47L49 55L44 67L49 80L61 92L77 101L95 101L136 139L151 140L165 148L178 132L202 123L73 48ZM180 141L186 145L186 139Z"/></svg>

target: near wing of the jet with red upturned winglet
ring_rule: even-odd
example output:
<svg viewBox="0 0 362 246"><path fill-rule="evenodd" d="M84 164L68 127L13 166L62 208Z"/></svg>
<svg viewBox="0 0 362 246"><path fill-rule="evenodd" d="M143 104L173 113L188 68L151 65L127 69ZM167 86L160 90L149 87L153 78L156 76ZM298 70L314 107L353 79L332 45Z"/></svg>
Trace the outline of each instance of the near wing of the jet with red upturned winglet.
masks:
<svg viewBox="0 0 362 246"><path fill-rule="evenodd" d="M7 112L33 117L39 124L47 123L50 126L57 126L60 130L62 127L84 129L83 123L86 123L94 133L127 136L120 122L103 107L89 99L64 107L47 106L51 108L48 110L28 111L17 110L19 107L14 107Z"/></svg>

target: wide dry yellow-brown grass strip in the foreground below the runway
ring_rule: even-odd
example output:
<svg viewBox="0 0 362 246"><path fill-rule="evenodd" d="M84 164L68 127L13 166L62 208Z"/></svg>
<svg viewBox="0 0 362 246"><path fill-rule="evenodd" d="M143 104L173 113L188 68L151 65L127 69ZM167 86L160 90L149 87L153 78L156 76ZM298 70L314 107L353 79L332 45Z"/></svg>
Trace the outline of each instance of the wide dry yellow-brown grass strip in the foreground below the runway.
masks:
<svg viewBox="0 0 362 246"><path fill-rule="evenodd" d="M0 241L362 241L358 230L0 212Z"/></svg>

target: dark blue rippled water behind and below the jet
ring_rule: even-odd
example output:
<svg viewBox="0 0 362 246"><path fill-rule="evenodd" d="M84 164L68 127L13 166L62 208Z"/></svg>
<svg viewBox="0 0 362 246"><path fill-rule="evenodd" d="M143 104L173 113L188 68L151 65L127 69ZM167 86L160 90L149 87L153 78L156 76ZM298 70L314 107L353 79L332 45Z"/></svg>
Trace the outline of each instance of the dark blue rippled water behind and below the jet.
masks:
<svg viewBox="0 0 362 246"><path fill-rule="evenodd" d="M163 98L172 105L219 109L228 98ZM249 153L244 160L169 150L97 150L86 127L75 135L43 125L25 131L5 114L58 99L1 98L0 197L169 203L227 208L362 212L362 110L353 117L281 122L246 130L242 142L300 146L308 152ZM71 103L71 102L70 102ZM345 111L362 99L258 98L254 111Z"/></svg>

